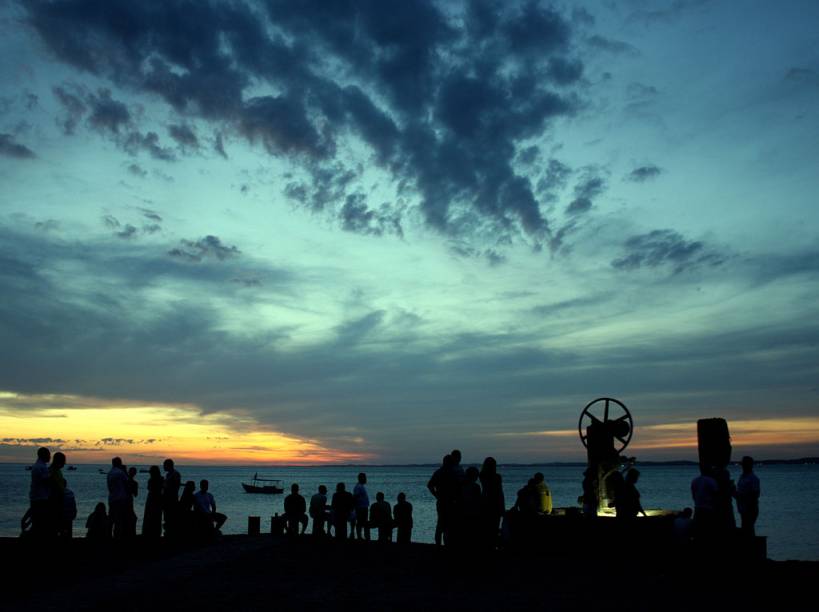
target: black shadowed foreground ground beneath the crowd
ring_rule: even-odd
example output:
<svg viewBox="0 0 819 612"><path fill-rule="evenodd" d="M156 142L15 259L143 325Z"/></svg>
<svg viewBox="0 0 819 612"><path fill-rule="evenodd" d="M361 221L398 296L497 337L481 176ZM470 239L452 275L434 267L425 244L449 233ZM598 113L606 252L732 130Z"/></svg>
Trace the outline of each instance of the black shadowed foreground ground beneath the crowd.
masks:
<svg viewBox="0 0 819 612"><path fill-rule="evenodd" d="M819 563L454 554L432 545L227 536L197 548L0 539L3 610L786 610ZM812 606L813 604L809 604Z"/></svg>

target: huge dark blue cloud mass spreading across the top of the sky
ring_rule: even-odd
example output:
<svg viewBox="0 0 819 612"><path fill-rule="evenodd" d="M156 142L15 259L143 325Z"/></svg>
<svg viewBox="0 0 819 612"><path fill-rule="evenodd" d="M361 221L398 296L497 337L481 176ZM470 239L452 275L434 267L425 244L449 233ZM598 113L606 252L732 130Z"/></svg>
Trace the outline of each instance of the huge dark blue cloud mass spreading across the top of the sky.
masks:
<svg viewBox="0 0 819 612"><path fill-rule="evenodd" d="M555 9L468 2L460 21L427 0L26 7L63 62L212 122L218 154L226 156L222 132L231 131L289 157L308 178L289 184L288 195L338 215L346 229L373 233L382 223L362 215L403 214L360 202L357 194L370 192L362 185L328 190L321 183L327 172L349 170L338 145L352 136L443 233L483 226L540 240L550 231L512 160L519 143L581 106L576 26ZM251 86L258 92L262 84L275 93L252 96ZM109 102L103 97L97 94L96 107ZM121 130L126 115L112 102L94 123ZM178 131L171 137L198 142ZM130 129L122 146L172 158L153 132Z"/></svg>

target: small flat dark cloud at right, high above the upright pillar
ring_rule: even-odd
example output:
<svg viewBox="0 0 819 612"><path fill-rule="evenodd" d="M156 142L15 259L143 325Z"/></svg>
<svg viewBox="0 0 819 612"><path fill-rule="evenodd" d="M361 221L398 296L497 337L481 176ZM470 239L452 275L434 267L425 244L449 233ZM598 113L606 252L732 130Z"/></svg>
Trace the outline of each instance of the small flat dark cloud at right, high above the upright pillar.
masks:
<svg viewBox="0 0 819 612"><path fill-rule="evenodd" d="M674 274L701 266L718 266L725 256L706 248L696 240L686 240L673 230L653 230L628 238L625 254L611 262L620 270L670 267Z"/></svg>

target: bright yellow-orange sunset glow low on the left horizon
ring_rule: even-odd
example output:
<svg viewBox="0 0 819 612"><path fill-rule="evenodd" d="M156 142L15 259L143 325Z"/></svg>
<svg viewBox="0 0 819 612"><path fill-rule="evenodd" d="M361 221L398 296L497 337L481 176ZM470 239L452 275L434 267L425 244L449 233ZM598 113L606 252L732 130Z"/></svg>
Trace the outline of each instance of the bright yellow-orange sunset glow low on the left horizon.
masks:
<svg viewBox="0 0 819 612"><path fill-rule="evenodd" d="M62 449L72 463L102 463L112 455L128 462L172 456L184 463L221 465L349 463L369 457L267 431L249 419L203 415L191 406L76 396L0 393L0 432L6 448L47 445ZM13 457L0 452L0 460Z"/></svg>

